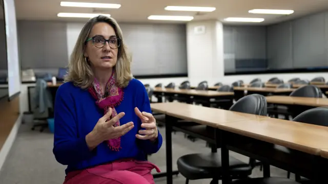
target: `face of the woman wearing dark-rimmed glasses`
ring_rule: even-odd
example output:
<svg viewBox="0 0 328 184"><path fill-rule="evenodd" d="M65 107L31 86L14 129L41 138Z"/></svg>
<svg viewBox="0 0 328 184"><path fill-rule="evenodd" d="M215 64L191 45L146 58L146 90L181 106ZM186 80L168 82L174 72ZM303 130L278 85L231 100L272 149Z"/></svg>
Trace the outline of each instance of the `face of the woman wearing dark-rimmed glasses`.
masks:
<svg viewBox="0 0 328 184"><path fill-rule="evenodd" d="M89 58L92 67L105 69L115 66L119 41L112 26L106 22L96 23L88 40L84 56Z"/></svg>

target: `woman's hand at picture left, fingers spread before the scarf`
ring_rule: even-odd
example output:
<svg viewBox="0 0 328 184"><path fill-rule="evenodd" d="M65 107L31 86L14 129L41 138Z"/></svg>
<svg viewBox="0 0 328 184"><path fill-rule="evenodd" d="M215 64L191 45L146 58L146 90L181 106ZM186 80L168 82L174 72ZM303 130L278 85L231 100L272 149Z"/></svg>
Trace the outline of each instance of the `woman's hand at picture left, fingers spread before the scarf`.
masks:
<svg viewBox="0 0 328 184"><path fill-rule="evenodd" d="M115 139L117 137L126 134L134 127L133 122L129 122L127 124L114 127L113 125L119 119L124 117L125 113L120 112L110 120L111 115L112 115L112 108L109 108L108 112L98 120L93 130L86 136L86 142L90 150L93 150L100 143L106 140Z"/></svg>

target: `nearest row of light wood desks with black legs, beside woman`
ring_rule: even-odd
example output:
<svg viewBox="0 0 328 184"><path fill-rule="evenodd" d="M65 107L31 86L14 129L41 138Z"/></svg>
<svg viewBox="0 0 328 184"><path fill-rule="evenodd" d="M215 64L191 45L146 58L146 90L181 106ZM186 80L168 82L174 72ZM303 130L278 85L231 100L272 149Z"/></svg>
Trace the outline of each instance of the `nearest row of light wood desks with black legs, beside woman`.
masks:
<svg viewBox="0 0 328 184"><path fill-rule="evenodd" d="M183 122L177 122L181 119L214 129L215 149L212 148L212 152L221 148L223 184L229 181L229 150L260 160L265 164L265 177L270 176L269 165L272 165L312 179L314 183L326 183L328 127L178 102L152 103L151 108L166 116L169 184L173 183L171 132L173 129L183 132ZM283 151L277 146L292 151Z"/></svg>

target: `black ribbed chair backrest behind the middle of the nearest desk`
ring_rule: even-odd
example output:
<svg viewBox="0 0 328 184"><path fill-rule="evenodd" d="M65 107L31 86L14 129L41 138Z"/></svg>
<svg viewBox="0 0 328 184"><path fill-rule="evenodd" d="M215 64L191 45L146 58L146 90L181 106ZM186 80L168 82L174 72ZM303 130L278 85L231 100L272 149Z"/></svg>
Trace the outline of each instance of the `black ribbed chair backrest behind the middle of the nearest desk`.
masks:
<svg viewBox="0 0 328 184"><path fill-rule="evenodd" d="M267 116L267 99L258 94L244 96L233 104L230 110Z"/></svg>

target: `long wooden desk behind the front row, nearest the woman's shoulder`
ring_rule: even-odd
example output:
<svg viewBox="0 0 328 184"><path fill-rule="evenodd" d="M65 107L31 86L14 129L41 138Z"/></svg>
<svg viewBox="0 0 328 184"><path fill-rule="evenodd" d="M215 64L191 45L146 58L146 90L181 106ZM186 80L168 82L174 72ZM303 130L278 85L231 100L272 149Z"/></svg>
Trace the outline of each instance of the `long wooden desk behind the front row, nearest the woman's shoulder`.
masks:
<svg viewBox="0 0 328 184"><path fill-rule="evenodd" d="M158 102L162 102L162 96L169 96L169 97L186 97L189 99L187 103L191 103L192 100L199 100L202 101L202 105L210 106L211 100L214 101L219 100L227 100L233 102L234 93L233 92L220 92L220 91L212 91L212 90L195 90L195 89L170 89L170 88L161 88L156 87L154 88L154 95L159 96ZM191 98L193 97L193 98Z"/></svg>

